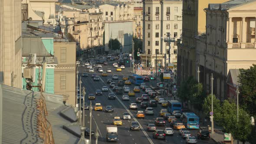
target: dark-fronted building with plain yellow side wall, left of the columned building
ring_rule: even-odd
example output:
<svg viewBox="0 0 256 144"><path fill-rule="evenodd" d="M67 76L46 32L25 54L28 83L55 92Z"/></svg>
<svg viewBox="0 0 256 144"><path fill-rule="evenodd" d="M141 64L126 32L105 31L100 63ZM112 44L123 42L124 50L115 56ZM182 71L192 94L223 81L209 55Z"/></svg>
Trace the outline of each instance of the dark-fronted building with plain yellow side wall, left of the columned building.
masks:
<svg viewBox="0 0 256 144"><path fill-rule="evenodd" d="M177 82L196 77L196 40L194 36L205 33L206 16L203 11L209 3L223 3L228 0L184 0L182 12L182 43L178 46Z"/></svg>

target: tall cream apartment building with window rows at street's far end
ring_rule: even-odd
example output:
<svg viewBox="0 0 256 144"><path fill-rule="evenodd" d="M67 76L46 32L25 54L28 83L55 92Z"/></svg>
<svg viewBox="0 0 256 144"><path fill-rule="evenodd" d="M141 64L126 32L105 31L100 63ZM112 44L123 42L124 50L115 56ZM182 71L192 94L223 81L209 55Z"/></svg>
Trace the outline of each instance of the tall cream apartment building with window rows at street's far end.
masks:
<svg viewBox="0 0 256 144"><path fill-rule="evenodd" d="M170 62L177 63L177 39L180 39L182 30L182 0L144 0L143 13L142 62L152 67L164 66L164 54L168 62L170 53ZM168 36L175 39L170 51L170 43L164 42Z"/></svg>

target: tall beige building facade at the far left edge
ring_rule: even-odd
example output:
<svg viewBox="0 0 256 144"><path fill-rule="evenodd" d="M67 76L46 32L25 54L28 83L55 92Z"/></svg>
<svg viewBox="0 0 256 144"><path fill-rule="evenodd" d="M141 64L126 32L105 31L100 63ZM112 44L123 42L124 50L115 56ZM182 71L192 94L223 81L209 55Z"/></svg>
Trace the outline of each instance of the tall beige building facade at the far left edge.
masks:
<svg viewBox="0 0 256 144"><path fill-rule="evenodd" d="M22 88L21 1L0 0L0 83Z"/></svg>

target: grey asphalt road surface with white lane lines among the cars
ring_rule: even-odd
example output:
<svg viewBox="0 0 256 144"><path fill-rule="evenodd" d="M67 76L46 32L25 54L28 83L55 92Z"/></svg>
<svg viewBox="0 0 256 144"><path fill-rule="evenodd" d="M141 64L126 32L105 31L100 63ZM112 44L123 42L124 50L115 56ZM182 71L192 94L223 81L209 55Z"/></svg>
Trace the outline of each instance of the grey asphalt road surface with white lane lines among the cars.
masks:
<svg viewBox="0 0 256 144"><path fill-rule="evenodd" d="M85 87L86 96L85 102L90 103L87 99L87 95L95 94L97 89L102 89L102 86L108 86L107 79L112 79L113 74L118 75L118 80L121 80L124 75L128 75L130 62L126 63L127 66L125 69L122 69L121 72L116 72L116 68L112 67L113 62L109 62L108 66L103 66L103 70L106 71L108 68L112 69L111 73L108 73L108 76L102 77L100 72L93 72L100 76L100 80L95 82L91 75L92 72L89 73L89 70L86 67L79 68L79 75L82 72L89 73L88 77L81 77L82 78L82 86ZM118 82L118 80L114 80L114 82ZM151 83L155 83L155 80L150 82L146 82L147 85L151 85ZM130 85L130 89L133 89L135 85ZM133 117L131 120L122 120L123 124L118 126L118 144L185 144L185 140L178 134L177 130L174 130L174 136L166 136L166 140L158 140L153 139L152 133L146 131L146 124L154 124L154 119L159 117L159 112L161 110L161 105L158 104L157 107L154 108L154 115L146 115L144 119L136 118L136 110L129 110L129 104L135 103L137 97L141 97L144 92L141 90L139 93L135 93L135 97L130 97L129 101L122 101L122 95L116 95L115 100L108 100L108 93L112 92L112 88L109 88L108 92L103 92L103 95L97 95L95 100L92 100L92 106L94 107L95 103L101 103L103 106L103 111L92 111L92 130L96 131L98 128L99 137L98 137L98 144L105 144L106 142L106 125L112 124L113 118L115 116L119 116L122 118L122 113L124 112L131 112ZM106 113L104 111L105 106L112 105L114 107L114 112ZM138 110L144 110L138 106ZM140 131L130 131L130 122L131 121L138 121L141 125ZM85 111L85 126L89 128L89 110ZM166 127L169 127L169 124L166 124ZM157 129L164 129L165 127L158 127ZM192 136L196 136L198 130L190 130ZM89 137L88 137L89 138ZM95 144L95 137L92 136L92 143ZM213 140L198 140L198 144L215 144Z"/></svg>

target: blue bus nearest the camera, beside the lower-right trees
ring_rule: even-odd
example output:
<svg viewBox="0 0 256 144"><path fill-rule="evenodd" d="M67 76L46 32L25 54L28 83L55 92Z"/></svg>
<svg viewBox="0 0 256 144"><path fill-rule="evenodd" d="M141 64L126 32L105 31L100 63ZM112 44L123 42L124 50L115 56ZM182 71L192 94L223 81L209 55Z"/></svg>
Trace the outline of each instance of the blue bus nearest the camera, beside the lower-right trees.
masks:
<svg viewBox="0 0 256 144"><path fill-rule="evenodd" d="M198 129L199 128L199 117L193 112L184 112L182 114L182 123L186 128Z"/></svg>

